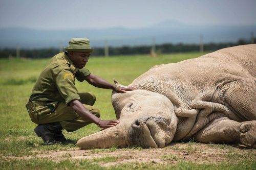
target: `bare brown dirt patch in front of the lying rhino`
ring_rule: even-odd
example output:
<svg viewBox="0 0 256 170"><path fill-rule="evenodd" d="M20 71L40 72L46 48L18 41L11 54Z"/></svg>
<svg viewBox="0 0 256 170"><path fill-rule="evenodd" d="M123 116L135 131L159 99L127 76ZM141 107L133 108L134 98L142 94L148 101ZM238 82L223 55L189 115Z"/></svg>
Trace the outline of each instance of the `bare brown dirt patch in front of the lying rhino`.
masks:
<svg viewBox="0 0 256 170"><path fill-rule="evenodd" d="M101 166L113 166L133 162L177 163L191 161L195 163L219 163L233 161L232 155L249 155L256 159L256 150L231 147L224 145L210 145L202 143L173 143L162 149L96 149L80 150L72 148L68 151L47 151L36 156L12 157L11 159L48 158L59 162L61 160L90 160Z"/></svg>

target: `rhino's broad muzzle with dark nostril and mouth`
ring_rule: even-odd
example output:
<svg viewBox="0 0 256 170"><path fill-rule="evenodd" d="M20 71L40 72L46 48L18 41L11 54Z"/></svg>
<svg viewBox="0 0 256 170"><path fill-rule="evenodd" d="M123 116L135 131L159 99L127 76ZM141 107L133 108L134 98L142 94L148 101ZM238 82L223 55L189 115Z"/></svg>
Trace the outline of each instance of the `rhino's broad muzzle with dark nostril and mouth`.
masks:
<svg viewBox="0 0 256 170"><path fill-rule="evenodd" d="M128 145L142 148L163 148L170 142L168 121L163 117L148 117L135 120L128 132Z"/></svg>

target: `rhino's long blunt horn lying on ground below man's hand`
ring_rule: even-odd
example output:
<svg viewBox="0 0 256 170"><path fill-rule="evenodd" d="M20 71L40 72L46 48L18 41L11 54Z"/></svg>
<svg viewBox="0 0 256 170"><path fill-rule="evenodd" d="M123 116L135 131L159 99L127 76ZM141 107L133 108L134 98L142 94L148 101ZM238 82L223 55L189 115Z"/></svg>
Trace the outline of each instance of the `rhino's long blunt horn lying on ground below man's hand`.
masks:
<svg viewBox="0 0 256 170"><path fill-rule="evenodd" d="M118 126L118 125L117 125ZM125 147L124 135L120 134L117 126L83 137L77 141L81 149Z"/></svg>

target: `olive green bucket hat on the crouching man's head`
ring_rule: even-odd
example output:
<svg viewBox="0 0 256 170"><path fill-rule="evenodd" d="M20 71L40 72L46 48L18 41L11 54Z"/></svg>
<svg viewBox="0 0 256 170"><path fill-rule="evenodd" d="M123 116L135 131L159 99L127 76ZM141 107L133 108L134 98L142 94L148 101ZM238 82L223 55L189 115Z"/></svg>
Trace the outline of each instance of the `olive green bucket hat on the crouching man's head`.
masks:
<svg viewBox="0 0 256 170"><path fill-rule="evenodd" d="M87 38L71 38L66 51L92 53L94 51L90 46L90 40Z"/></svg>

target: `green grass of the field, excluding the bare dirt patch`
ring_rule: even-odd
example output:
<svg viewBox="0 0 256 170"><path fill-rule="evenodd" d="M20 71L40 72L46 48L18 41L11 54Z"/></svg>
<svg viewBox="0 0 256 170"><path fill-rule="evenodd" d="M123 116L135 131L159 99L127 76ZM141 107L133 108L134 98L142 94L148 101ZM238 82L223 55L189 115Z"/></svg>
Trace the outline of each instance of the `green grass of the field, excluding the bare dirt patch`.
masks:
<svg viewBox="0 0 256 170"><path fill-rule="evenodd" d="M188 58L196 58L201 56L200 53L182 53L159 55L156 58L144 56L118 56L109 58L93 58L91 57L87 68L95 75L98 75L109 82L113 82L113 78L123 85L129 85L136 77L150 69L152 66L164 63L173 63ZM40 71L47 65L49 59L2 59L0 60L0 169L105 169L101 167L99 162L116 161L116 157L106 157L93 160L70 160L72 154L64 155L63 160L55 162L51 159L16 159L22 156L34 156L46 151L63 151L76 148L76 141L86 135L95 133L99 130L96 125L89 125L81 128L73 133L66 131L63 134L70 139L66 144L44 145L42 140L37 137L33 129L35 124L30 120L25 104L28 102L32 87ZM76 86L80 92L93 92L97 101L95 106L101 110L101 118L115 118L114 109L111 105L111 90L99 89L89 85L87 82L80 83L76 81ZM194 143L194 141L190 141ZM195 152L189 148L188 152ZM209 148L212 146L209 145ZM170 147L175 150L175 147ZM140 147L126 148L124 151L140 151ZM178 150L178 148L177 148ZM116 148L110 149L94 149L91 154L99 152L115 152ZM232 155L229 155L229 157ZM15 158L11 158L15 157ZM176 160L178 157L166 156L162 159ZM239 164L239 162L236 162ZM246 162L241 162L238 166L232 165L235 169L242 166L248 169L255 168L255 161L250 158ZM141 164L120 164L113 166L113 169L194 169L193 167L207 169L217 168L221 165L215 164L197 164L191 162L180 162L175 165L155 165L154 163ZM191 167L191 168L188 168ZM225 163L223 165L225 167ZM225 169L225 168L224 168ZM227 169L227 168L226 168Z"/></svg>

